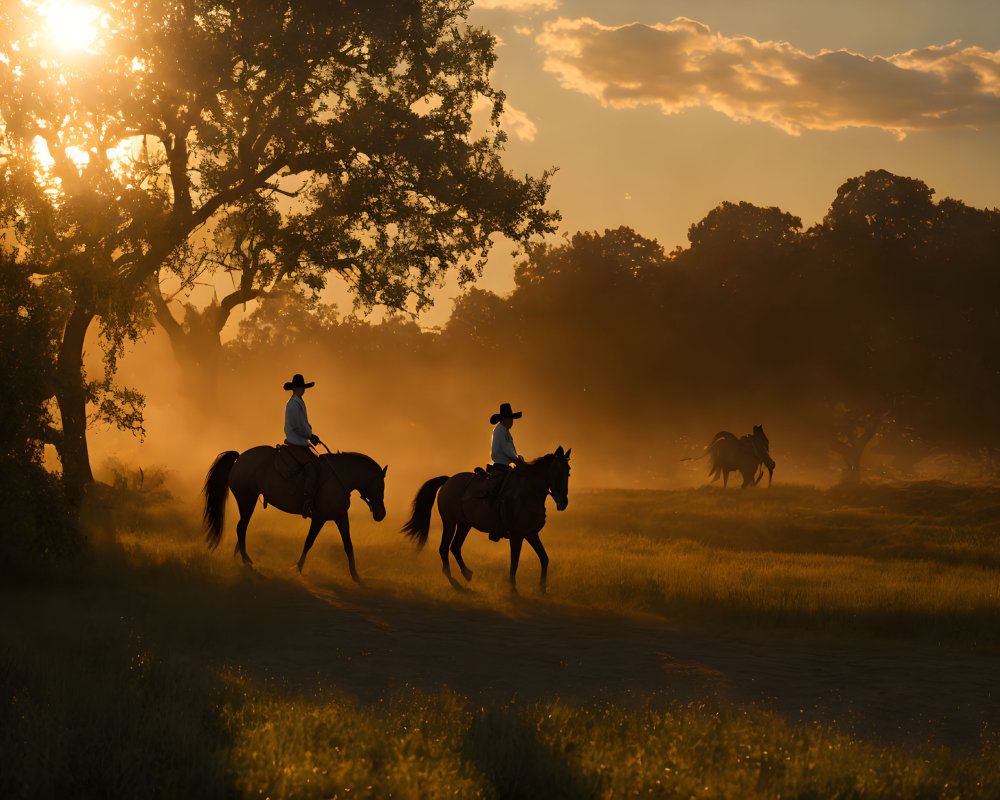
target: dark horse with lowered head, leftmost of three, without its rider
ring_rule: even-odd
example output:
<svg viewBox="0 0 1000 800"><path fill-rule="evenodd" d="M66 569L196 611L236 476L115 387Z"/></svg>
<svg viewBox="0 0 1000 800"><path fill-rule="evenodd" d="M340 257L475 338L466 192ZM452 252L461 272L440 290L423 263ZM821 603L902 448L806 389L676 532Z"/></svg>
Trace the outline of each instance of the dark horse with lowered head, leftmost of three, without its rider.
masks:
<svg viewBox="0 0 1000 800"><path fill-rule="evenodd" d="M244 564L253 564L247 555L246 533L258 497L263 495L264 508L270 503L289 514L302 513L302 490L296 481L288 480L278 472L275 465L278 452L275 447L261 445L242 453L227 450L215 459L205 479L204 489L205 540L210 550L218 547L222 538L226 489L233 493L240 510L233 555L239 553ZM319 460L320 463L316 465L319 479L312 519L297 566L299 572L302 572L306 553L326 521L332 519L337 523L340 537L344 540L344 552L347 553L351 577L360 583L354 566L354 545L351 544L351 529L347 518L351 492L356 491L368 505L375 521L381 522L385 519L385 476L389 467L379 466L374 459L362 453L327 453L319 456Z"/></svg>

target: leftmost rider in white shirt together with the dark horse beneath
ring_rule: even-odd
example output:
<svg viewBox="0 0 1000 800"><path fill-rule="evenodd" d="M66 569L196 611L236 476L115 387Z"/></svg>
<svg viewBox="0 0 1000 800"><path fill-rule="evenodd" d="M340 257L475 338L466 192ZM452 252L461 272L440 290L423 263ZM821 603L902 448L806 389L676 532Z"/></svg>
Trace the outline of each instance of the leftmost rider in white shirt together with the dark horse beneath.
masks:
<svg viewBox="0 0 1000 800"><path fill-rule="evenodd" d="M312 432L302 401L302 393L313 385L306 383L301 375L295 375L285 384L285 390L293 394L285 412L284 445L262 445L242 453L228 450L219 454L205 480L205 539L210 549L219 545L226 497L231 491L240 511L235 552L243 557L243 563L252 564L247 555L246 532L257 500L263 497L265 508L270 504L286 513L311 518L297 564L299 572L320 530L327 520L333 520L344 542L351 577L357 581L347 516L351 492L356 491L375 521L381 522L385 519L385 476L389 468L362 453L327 452L319 456L308 449L309 444L322 444Z"/></svg>

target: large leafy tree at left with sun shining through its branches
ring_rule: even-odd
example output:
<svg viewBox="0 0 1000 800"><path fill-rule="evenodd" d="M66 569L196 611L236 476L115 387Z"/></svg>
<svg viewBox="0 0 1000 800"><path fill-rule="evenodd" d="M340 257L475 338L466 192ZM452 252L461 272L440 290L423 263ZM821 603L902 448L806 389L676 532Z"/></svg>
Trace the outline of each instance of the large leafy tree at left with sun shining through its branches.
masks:
<svg viewBox="0 0 1000 800"><path fill-rule="evenodd" d="M519 179L501 163L494 39L465 24L467 4L95 8L94 41L73 52L45 35L37 5L6 4L0 17L3 220L64 321L54 392L70 482L92 480L94 392L108 411L125 402L119 423L137 423L136 396L115 394L110 377L142 333L151 282L189 274L198 237L218 241L232 214L267 220L267 270L314 284L335 271L360 303L394 308L426 304L449 269L473 278L494 234L525 241L554 224L548 173ZM492 125L477 137L483 97ZM252 259L222 262L244 274L209 330L270 285L264 273L244 280ZM88 389L95 320L107 374Z"/></svg>

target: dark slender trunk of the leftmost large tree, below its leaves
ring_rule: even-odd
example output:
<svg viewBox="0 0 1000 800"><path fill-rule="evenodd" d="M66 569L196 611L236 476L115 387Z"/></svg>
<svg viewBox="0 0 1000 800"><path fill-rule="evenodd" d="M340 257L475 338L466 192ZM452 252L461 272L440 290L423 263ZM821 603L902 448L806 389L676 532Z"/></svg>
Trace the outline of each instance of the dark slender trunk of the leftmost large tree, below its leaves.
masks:
<svg viewBox="0 0 1000 800"><path fill-rule="evenodd" d="M83 378L83 343L94 314L76 306L63 330L56 363L56 402L62 417L62 435L57 450L62 461L63 484L71 497L79 498L93 483L87 448L87 388Z"/></svg>

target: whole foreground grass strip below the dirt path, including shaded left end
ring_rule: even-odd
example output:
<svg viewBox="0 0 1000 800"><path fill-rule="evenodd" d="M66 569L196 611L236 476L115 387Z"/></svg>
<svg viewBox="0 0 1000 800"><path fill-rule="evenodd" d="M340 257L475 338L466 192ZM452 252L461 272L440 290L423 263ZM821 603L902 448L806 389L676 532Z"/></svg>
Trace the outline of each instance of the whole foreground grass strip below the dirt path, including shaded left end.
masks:
<svg viewBox="0 0 1000 800"><path fill-rule="evenodd" d="M721 703L287 694L85 631L3 653L5 798L976 798L996 753L883 748Z"/></svg>

